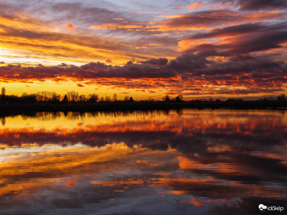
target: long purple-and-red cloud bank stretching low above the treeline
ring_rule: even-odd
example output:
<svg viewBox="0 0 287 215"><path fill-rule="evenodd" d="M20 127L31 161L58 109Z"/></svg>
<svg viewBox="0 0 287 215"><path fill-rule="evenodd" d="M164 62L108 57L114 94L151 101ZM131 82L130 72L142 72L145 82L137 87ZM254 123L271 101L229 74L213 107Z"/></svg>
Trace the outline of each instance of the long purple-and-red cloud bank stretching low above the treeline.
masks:
<svg viewBox="0 0 287 215"><path fill-rule="evenodd" d="M267 57L238 55L216 62L200 54L186 52L165 65L155 66L153 63L157 60L151 60L150 64L148 61L146 64L128 62L124 66L100 62L82 66L60 64L26 67L9 64L0 67L0 80L23 83L72 80L141 92L156 89L149 90L150 93L168 89L170 92L182 92L183 95L247 95L276 93L286 89L287 64Z"/></svg>

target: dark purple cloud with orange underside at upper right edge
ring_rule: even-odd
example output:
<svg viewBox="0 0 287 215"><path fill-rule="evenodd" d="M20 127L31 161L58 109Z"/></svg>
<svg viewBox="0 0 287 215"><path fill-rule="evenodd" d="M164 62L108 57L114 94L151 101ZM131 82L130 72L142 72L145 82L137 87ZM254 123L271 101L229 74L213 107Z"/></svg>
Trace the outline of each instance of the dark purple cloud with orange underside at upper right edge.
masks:
<svg viewBox="0 0 287 215"><path fill-rule="evenodd" d="M211 30L207 33L191 35L190 39L216 38L232 36L222 44L201 43L191 46L189 51L198 52L199 56L237 56L252 52L267 51L283 48L287 42L287 23L277 25L247 24L236 25L222 29Z"/></svg>

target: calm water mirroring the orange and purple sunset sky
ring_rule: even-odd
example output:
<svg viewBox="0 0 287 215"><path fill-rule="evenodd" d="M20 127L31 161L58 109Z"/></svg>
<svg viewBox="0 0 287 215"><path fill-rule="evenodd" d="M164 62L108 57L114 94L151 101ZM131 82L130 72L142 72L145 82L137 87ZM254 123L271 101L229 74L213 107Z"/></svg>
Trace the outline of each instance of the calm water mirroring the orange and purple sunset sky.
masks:
<svg viewBox="0 0 287 215"><path fill-rule="evenodd" d="M0 119L0 214L287 212L286 111Z"/></svg>

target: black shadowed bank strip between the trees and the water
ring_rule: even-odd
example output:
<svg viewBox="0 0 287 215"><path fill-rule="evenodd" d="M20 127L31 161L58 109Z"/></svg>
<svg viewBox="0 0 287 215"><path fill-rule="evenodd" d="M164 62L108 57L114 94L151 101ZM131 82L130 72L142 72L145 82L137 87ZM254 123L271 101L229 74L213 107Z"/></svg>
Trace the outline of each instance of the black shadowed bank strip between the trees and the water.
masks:
<svg viewBox="0 0 287 215"><path fill-rule="evenodd" d="M25 114L31 112L92 112L92 111L129 111L129 110L168 110L180 108L282 108L287 109L286 101L233 101L233 102L98 102L98 103L35 103L1 104L0 114Z"/></svg>

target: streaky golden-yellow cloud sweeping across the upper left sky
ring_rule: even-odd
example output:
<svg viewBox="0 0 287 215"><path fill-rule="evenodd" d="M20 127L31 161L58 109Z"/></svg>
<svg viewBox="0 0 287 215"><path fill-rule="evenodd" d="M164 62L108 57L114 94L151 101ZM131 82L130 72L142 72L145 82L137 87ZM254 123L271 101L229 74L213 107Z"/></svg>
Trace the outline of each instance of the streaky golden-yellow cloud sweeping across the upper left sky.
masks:
<svg viewBox="0 0 287 215"><path fill-rule="evenodd" d="M68 5L67 7L71 6ZM13 50L13 56L6 57L21 57L24 61L25 58L33 56L32 58L39 62L39 60L49 56L50 59L53 59L51 61L73 61L82 64L93 59L102 62L113 59L117 64L122 64L130 60L130 56L136 57L138 61L143 61L158 55L158 53L152 52L153 46L148 45L152 44L149 42L152 38L146 41L147 51L138 49L135 52L135 47L145 47L140 39L136 42L125 41L107 37L106 34L95 35L87 30L84 33L79 31L77 34L68 34L67 32L55 31L58 27L53 22L39 21L31 16L29 19L17 16L20 19L13 21L15 17L16 15L11 16L5 13L0 15L0 19L3 20L3 24L0 26L1 45L5 50ZM68 28L74 28L71 23L69 24L67 25ZM19 30L22 30L23 33L19 33ZM154 43L161 44L157 48L160 52L167 53L169 56L174 55L173 50L177 41L161 38Z"/></svg>

